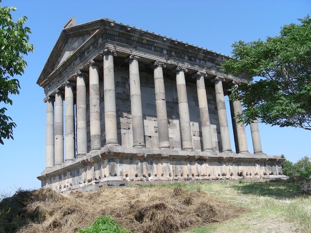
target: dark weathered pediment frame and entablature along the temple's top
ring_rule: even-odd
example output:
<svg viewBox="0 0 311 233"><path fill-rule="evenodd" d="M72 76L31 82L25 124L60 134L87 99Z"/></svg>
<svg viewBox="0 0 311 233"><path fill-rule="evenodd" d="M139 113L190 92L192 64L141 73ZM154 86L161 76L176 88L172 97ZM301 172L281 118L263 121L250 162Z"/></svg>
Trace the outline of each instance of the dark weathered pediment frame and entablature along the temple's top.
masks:
<svg viewBox="0 0 311 233"><path fill-rule="evenodd" d="M66 59L61 60L62 51L68 45L69 39L83 35L89 36L86 36L85 41L75 48L75 50L71 51ZM215 75L220 72L217 67L225 59L230 59L230 57L224 54L116 23L110 19L99 19L64 29L61 32L37 80L37 84L44 87L52 79L55 79L56 76L59 76L60 72L66 73L76 63L86 60L89 61L94 56L98 56L107 45L110 45L117 52L121 50L128 53L132 53L133 51L138 53L139 51L145 51L146 53L147 51L150 53L150 59L156 58L158 60L157 58L162 58L162 62L168 62L170 60L172 64L180 62L187 63L201 70L208 68L211 74ZM143 53L136 55L143 56ZM81 66L81 64L79 65ZM73 70L73 72L76 72L76 70ZM241 80L241 77L232 79ZM242 77L242 79L246 82L247 77Z"/></svg>

